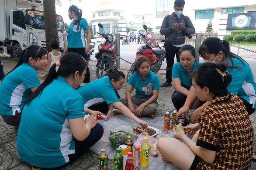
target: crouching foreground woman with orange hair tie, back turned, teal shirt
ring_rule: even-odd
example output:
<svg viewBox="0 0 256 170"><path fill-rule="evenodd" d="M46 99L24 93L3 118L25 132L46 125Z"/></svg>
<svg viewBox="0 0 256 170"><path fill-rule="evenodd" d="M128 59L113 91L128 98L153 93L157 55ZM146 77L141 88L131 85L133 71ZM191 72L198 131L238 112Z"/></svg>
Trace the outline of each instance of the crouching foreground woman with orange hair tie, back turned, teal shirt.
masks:
<svg viewBox="0 0 256 170"><path fill-rule="evenodd" d="M83 98L75 90L84 79L85 68L80 54L67 53L32 94L17 135L22 160L39 168L62 167L100 140L103 127L93 115L84 120Z"/></svg>

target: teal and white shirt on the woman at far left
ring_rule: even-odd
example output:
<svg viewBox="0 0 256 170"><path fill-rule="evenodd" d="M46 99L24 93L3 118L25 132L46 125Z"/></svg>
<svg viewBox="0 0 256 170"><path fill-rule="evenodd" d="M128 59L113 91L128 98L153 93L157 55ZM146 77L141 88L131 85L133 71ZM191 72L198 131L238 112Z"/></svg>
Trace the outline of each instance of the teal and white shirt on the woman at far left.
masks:
<svg viewBox="0 0 256 170"><path fill-rule="evenodd" d="M36 70L28 63L23 63L0 84L0 114L15 116L16 110L21 109L32 94L30 88L40 86Z"/></svg>

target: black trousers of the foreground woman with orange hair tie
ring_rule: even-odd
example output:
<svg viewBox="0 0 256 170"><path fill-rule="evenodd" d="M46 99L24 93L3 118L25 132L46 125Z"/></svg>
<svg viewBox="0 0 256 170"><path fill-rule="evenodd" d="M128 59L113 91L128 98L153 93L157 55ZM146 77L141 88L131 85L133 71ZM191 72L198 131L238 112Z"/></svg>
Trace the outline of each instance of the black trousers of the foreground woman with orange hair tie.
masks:
<svg viewBox="0 0 256 170"><path fill-rule="evenodd" d="M90 135L83 141L78 141L75 138L75 153L69 155L69 162L62 165L61 167L65 167L69 163L72 163L77 158L79 158L86 150L89 150L103 135L103 127L97 123L95 127L91 129ZM52 160L54 161L54 160ZM55 168L41 168L42 170L55 170L61 167Z"/></svg>

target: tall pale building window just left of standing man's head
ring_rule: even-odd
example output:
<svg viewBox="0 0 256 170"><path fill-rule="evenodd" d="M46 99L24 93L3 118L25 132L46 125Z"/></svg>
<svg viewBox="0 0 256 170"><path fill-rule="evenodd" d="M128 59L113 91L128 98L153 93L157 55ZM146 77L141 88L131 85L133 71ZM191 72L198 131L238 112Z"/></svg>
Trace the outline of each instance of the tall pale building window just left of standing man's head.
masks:
<svg viewBox="0 0 256 170"><path fill-rule="evenodd" d="M170 0L156 0L156 17L163 18L170 14Z"/></svg>

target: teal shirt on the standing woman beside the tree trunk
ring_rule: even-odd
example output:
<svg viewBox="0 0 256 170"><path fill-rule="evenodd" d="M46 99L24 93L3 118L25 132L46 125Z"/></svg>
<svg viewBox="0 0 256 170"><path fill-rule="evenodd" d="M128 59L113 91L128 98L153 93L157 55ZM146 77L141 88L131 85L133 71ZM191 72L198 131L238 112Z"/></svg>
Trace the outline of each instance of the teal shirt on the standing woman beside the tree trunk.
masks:
<svg viewBox="0 0 256 170"><path fill-rule="evenodd" d="M77 19L78 20L78 19ZM79 30L77 30L77 25L74 25L74 20L69 25L69 48L84 48L86 47L85 41L85 30L88 30L89 25L86 19L81 18Z"/></svg>

